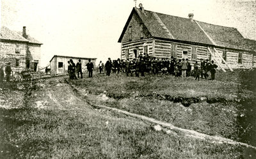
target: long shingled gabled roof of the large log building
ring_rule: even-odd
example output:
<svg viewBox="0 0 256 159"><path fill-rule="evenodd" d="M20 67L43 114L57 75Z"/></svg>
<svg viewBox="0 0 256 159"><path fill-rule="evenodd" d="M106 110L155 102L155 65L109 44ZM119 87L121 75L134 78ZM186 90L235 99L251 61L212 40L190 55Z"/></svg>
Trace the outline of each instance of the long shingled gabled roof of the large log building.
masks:
<svg viewBox="0 0 256 159"><path fill-rule="evenodd" d="M182 42L216 45L230 49L250 50L244 43L244 37L234 27L217 26L197 20L133 8L124 30L118 40L122 41L132 15L136 13L155 38L179 40Z"/></svg>

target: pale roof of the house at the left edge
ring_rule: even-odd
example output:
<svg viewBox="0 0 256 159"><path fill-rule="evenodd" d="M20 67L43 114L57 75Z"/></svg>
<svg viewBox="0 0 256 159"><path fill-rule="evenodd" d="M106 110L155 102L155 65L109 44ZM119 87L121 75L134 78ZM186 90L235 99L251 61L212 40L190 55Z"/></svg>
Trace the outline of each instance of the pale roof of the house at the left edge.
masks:
<svg viewBox="0 0 256 159"><path fill-rule="evenodd" d="M35 43L35 44L42 45L42 43L35 40L35 38L29 36L29 34L27 34L27 36L28 36L28 39L26 39L22 36L22 32L11 31L10 29L8 29L5 26L1 27L0 38L2 40L13 40L13 41L28 42L28 43Z"/></svg>

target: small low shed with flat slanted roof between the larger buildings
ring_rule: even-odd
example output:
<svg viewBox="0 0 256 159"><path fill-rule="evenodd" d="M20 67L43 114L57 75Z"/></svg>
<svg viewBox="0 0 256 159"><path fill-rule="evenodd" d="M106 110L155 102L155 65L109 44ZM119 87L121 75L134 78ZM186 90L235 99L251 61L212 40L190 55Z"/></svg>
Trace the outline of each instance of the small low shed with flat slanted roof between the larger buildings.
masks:
<svg viewBox="0 0 256 159"><path fill-rule="evenodd" d="M78 60L81 59L82 72L85 72L86 64L89 62L89 59L91 59L93 65L95 66L95 62L97 58L54 55L50 61L51 75L67 74L68 61L70 61L70 59L72 59L75 64L77 64Z"/></svg>

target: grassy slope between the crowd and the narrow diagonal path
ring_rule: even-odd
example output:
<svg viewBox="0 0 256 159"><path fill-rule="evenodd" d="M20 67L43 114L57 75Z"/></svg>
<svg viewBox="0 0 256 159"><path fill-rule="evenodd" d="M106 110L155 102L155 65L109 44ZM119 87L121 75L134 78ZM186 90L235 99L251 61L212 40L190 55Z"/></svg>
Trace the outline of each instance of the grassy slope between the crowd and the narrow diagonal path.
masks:
<svg viewBox="0 0 256 159"><path fill-rule="evenodd" d="M74 80L72 84L97 104L256 145L253 75L255 70L238 70L217 73L217 80L198 82L192 77L146 75L136 78L113 74ZM104 91L110 97L108 100L101 98Z"/></svg>

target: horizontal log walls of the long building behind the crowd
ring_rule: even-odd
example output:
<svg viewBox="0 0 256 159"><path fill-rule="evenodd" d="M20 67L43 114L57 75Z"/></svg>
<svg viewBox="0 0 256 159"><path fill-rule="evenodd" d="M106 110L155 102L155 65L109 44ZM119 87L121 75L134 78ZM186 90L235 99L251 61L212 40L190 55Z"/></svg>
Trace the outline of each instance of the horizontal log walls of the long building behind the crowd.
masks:
<svg viewBox="0 0 256 159"><path fill-rule="evenodd" d="M256 67L256 59L253 58L252 53L250 52L239 52L237 50L230 49L220 49L216 48L217 52L214 51L213 47L209 47L211 52L214 54L214 57L211 56L208 48L200 45L190 45L185 43L176 43L169 42L164 40L138 40L136 42L130 43L122 43L122 53L121 59L126 59L126 55L128 54L129 59L134 58L134 49L138 50L138 55L140 53L144 53L143 47L148 46L148 54L150 56L157 57L158 59L169 58L173 56L173 50L175 51L175 55L177 59L184 58L184 51L188 52L186 58L189 59L189 62L193 66L195 61L200 63L200 59L209 59L214 60L216 64L219 65L218 69L221 67L228 69L228 67L223 63L221 57L226 54L226 62L230 68L252 68ZM195 52L196 58L192 59L192 53ZM239 63L239 54L241 54L241 63ZM218 56L219 55L219 56ZM194 56L195 57L195 56ZM218 63L217 63L218 62Z"/></svg>

